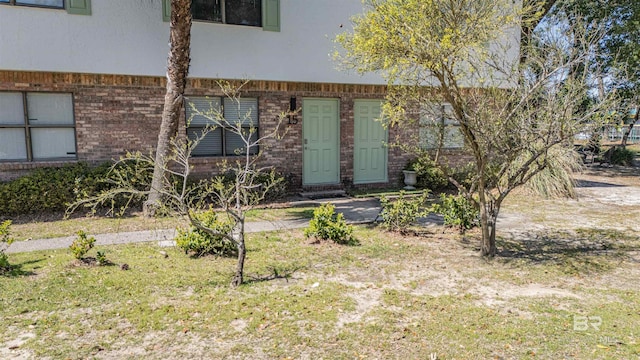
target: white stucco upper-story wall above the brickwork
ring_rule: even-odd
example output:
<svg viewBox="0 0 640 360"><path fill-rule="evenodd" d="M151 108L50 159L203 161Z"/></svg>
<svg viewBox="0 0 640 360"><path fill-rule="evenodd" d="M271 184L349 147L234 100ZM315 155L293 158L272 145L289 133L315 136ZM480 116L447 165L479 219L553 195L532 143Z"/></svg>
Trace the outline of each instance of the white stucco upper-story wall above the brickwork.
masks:
<svg viewBox="0 0 640 360"><path fill-rule="evenodd" d="M383 84L336 70L334 36L360 0L281 0L281 31L194 22L190 76ZM93 0L91 16L0 6L0 69L165 74L169 24L161 0ZM340 25L343 25L341 28Z"/></svg>

